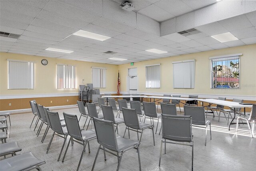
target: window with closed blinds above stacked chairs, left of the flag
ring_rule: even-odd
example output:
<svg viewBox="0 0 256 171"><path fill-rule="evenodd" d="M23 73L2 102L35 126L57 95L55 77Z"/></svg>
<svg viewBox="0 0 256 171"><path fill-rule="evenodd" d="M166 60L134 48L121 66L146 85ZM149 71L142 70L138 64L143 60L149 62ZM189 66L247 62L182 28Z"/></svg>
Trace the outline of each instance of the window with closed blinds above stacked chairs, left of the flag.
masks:
<svg viewBox="0 0 256 171"><path fill-rule="evenodd" d="M92 84L94 88L106 88L106 68L92 67Z"/></svg>

